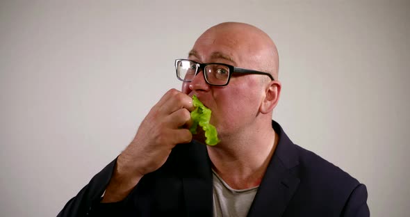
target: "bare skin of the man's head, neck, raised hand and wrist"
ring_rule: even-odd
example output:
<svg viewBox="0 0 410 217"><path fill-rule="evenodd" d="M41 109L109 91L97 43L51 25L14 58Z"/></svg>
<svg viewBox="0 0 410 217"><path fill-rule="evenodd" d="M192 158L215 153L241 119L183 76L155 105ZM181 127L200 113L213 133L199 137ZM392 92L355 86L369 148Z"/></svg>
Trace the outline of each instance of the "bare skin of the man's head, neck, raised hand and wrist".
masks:
<svg viewBox="0 0 410 217"><path fill-rule="evenodd" d="M227 22L205 31L188 56L199 63L227 63L263 72L267 76L233 76L228 86L209 86L202 72L181 91L169 90L149 111L136 137L118 156L115 172L102 202L124 199L147 173L165 163L172 148L189 143L192 95L212 111L211 124L220 143L207 146L213 170L229 186L245 189L258 186L277 145L272 129L272 111L279 101L278 55L274 42L254 26ZM195 137L204 141L202 137Z"/></svg>

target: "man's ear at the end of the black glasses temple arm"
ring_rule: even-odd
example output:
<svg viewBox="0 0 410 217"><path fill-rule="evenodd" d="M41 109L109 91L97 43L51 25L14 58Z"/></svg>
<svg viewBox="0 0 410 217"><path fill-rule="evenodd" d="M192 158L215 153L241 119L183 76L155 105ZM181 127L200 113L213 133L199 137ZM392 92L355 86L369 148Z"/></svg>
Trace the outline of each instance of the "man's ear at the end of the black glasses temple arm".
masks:
<svg viewBox="0 0 410 217"><path fill-rule="evenodd" d="M265 96L262 99L259 111L263 114L270 113L279 102L279 95L281 93L281 82L270 81L265 88Z"/></svg>

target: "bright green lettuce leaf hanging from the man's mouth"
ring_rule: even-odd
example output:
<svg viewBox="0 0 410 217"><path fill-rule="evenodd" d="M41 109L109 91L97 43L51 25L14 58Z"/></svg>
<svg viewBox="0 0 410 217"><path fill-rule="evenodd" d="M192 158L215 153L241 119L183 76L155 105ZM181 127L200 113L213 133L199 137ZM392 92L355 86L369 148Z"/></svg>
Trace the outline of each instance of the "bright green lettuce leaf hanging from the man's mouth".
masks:
<svg viewBox="0 0 410 217"><path fill-rule="evenodd" d="M191 111L192 126L189 131L192 134L197 134L198 125L202 127L205 132L206 145L216 145L220 142L218 139L218 132L215 126L209 123L211 120L211 109L208 109L199 101L198 97L192 95L192 104L195 107L194 111Z"/></svg>

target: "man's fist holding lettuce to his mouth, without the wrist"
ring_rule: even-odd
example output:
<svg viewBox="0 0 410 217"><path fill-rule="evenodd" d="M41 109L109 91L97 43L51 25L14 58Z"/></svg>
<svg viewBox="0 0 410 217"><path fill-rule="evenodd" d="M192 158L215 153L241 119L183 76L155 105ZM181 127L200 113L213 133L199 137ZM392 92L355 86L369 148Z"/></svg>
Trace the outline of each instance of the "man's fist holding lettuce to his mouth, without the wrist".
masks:
<svg viewBox="0 0 410 217"><path fill-rule="evenodd" d="M136 137L119 159L133 173L145 175L160 168L179 143L189 143L192 134L184 125L190 124L192 99L178 90L169 90L152 107L140 124ZM120 166L119 163L119 166Z"/></svg>

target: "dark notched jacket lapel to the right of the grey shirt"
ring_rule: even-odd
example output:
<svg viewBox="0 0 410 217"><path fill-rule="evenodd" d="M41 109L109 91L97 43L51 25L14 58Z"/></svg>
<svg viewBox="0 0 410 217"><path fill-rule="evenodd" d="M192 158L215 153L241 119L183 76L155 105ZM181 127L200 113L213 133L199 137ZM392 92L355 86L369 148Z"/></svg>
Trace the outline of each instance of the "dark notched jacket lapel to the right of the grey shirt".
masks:
<svg viewBox="0 0 410 217"><path fill-rule="evenodd" d="M279 135L279 143L249 209L251 217L282 216L300 183L290 170L299 164L295 146L279 124L272 122L272 127Z"/></svg>

